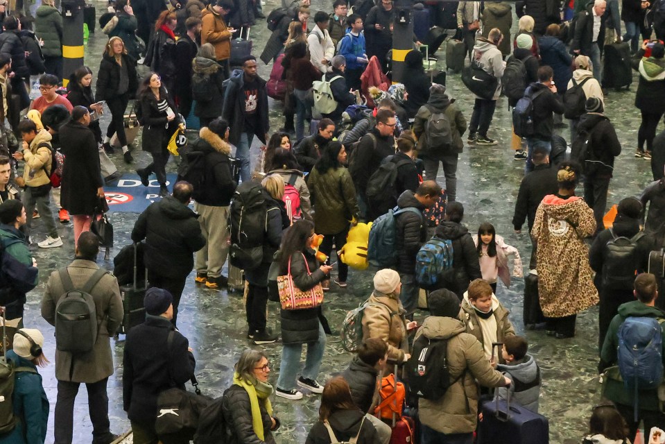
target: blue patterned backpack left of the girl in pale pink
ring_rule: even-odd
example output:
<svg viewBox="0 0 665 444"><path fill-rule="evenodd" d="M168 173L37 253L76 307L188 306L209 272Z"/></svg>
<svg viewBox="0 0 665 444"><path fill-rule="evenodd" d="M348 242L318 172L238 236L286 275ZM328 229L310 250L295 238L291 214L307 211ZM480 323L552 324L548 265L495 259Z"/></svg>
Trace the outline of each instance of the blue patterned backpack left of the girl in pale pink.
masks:
<svg viewBox="0 0 665 444"><path fill-rule="evenodd" d="M415 256L415 279L420 288L441 288L444 273L453 268L453 241L433 237Z"/></svg>

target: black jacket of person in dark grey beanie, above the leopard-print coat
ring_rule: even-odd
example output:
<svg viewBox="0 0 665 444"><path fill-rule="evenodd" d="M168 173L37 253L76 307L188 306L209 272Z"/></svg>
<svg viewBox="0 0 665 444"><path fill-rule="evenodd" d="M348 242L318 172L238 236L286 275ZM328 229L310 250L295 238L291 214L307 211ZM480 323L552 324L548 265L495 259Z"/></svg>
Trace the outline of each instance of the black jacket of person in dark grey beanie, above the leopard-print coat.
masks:
<svg viewBox="0 0 665 444"><path fill-rule="evenodd" d="M611 178L614 170L614 157L621 154L621 142L616 136L610 119L605 114L587 112L580 117L577 128L578 132L590 133L591 148L598 159L595 162L596 172L592 175L587 174L587 178Z"/></svg>

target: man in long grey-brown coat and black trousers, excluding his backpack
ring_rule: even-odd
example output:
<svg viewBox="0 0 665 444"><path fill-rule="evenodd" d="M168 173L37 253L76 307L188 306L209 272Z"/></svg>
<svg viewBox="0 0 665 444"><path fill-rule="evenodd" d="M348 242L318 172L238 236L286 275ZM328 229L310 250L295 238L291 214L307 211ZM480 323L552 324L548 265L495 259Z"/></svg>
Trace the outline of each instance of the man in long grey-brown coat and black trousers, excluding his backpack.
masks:
<svg viewBox="0 0 665 444"><path fill-rule="evenodd" d="M82 289L100 267L95 263L99 241L92 232L83 232L78 238L76 259L67 266L67 274L75 289ZM54 271L46 284L42 298L42 317L55 325L55 307L66 291L59 271ZM81 383L88 393L88 409L92 420L92 444L110 444L116 436L110 432L108 395L106 384L113 374L111 336L118 330L123 318L122 299L118 280L105 273L90 290L97 316L97 338L92 350L72 355L56 350L55 379L58 379L58 399L55 402L55 444L71 444L74 425L74 400ZM56 341L56 346L58 343ZM58 347L59 348L59 347Z"/></svg>

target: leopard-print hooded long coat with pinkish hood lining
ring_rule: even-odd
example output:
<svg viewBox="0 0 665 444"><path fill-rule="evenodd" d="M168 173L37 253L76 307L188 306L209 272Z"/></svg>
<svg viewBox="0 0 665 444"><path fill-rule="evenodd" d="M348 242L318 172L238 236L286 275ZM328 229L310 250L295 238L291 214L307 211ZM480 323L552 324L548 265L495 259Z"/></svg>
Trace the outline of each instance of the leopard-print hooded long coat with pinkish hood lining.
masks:
<svg viewBox="0 0 665 444"><path fill-rule="evenodd" d="M531 235L538 243L538 293L543 314L561 318L598 303L585 237L596 232L594 212L578 196L545 196Z"/></svg>

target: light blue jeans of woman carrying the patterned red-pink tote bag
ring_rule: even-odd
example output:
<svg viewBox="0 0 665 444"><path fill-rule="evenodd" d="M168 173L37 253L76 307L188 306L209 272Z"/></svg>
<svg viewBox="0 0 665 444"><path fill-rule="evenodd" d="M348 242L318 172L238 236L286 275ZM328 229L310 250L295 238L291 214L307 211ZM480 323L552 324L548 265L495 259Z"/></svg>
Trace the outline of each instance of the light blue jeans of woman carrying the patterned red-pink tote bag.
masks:
<svg viewBox="0 0 665 444"><path fill-rule="evenodd" d="M300 372L300 376L308 379L316 379L316 376L319 374L325 347L326 334L323 331L323 325L319 322L319 339L316 342L307 344L305 368ZM286 391L295 388L295 377L298 374L298 370L300 370L301 354L302 344L284 344L282 348L282 364L279 366L279 377L277 378L277 388Z"/></svg>

